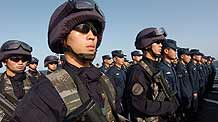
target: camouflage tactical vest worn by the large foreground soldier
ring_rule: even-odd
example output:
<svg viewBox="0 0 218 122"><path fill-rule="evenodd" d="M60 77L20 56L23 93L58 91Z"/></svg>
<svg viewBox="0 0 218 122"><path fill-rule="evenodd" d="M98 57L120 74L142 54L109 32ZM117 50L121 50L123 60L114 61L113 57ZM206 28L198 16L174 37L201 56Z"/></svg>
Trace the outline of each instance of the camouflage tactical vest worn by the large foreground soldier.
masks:
<svg viewBox="0 0 218 122"><path fill-rule="evenodd" d="M56 88L58 91L59 95L61 96L62 100L65 103L65 106L67 107L67 115L69 116L72 113L78 114L81 113L83 115L75 115L76 121L85 121L85 122L92 122L93 120L90 119L87 116L87 111L94 111L95 113L98 113L99 118L101 121L105 122L112 122L115 121L114 116L111 111L111 106L108 102L108 97L105 93L104 90L102 90L102 97L104 98L104 107L100 108L99 106L97 108L100 108L96 111L96 109L93 109L97 106L97 104L92 104L92 100L89 101L88 103L83 103L81 100L81 94L78 92L77 85L75 84L73 78L68 74L68 72L65 69L58 69L57 71L47 75L47 78L51 81L53 86ZM109 79L107 79L105 76L104 78L104 83L107 84L110 93L112 93L112 98L113 98L113 104L115 104L115 91L110 83ZM99 87L101 87L101 83L99 83ZM84 104L86 104L86 107L82 107ZM75 120L74 120L75 121Z"/></svg>

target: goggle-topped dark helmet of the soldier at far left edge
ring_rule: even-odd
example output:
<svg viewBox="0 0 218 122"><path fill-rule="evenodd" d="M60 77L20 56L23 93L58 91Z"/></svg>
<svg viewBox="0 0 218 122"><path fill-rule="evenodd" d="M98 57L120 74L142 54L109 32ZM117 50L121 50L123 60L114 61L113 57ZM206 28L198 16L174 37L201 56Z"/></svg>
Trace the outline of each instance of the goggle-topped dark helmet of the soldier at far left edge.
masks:
<svg viewBox="0 0 218 122"><path fill-rule="evenodd" d="M13 54L27 55L29 56L28 59L31 60L31 52L32 47L26 44L25 42L18 40L9 40L1 46L0 61L3 61L5 58Z"/></svg>

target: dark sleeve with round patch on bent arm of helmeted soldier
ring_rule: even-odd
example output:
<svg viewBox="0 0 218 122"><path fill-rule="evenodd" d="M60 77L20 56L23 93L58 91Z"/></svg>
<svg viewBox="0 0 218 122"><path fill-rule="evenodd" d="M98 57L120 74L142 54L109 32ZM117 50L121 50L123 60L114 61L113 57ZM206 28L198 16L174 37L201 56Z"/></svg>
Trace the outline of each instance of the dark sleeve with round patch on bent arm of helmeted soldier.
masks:
<svg viewBox="0 0 218 122"><path fill-rule="evenodd" d="M153 101L149 95L148 77L141 68L132 69L128 77L129 92L131 104L138 112L145 115L165 115L173 113L175 110L174 104L164 101Z"/></svg>

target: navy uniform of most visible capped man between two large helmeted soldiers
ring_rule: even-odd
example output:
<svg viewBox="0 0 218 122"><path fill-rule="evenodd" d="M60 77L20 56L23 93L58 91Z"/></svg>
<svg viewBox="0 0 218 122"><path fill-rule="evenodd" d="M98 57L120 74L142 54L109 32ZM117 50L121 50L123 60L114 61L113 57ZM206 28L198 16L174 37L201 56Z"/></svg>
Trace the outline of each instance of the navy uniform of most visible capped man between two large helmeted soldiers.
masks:
<svg viewBox="0 0 218 122"><path fill-rule="evenodd" d="M116 107L118 113L122 113L123 112L122 97L123 97L125 83L126 83L126 73L122 68L119 68L114 65L106 72L106 75L111 79L111 81L114 81L114 83L112 84L114 85L114 88L117 93Z"/></svg>

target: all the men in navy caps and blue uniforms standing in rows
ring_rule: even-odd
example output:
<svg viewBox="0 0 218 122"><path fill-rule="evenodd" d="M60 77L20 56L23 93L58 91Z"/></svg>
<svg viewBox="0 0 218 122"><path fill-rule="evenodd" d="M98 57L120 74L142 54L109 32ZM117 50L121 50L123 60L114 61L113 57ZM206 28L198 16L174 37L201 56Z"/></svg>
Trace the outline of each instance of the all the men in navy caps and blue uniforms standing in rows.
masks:
<svg viewBox="0 0 218 122"><path fill-rule="evenodd" d="M163 41L162 46L161 55L157 57L159 58L157 69L163 72L164 79L167 80L167 85L179 104L176 111L177 120L173 121L190 121L197 112L205 91L212 90L216 74L214 58L205 56L197 49L179 48L172 39ZM127 83L129 80L126 77L129 77L134 65L140 64L143 54L140 51L133 51L132 62L129 65L125 63L125 56L122 50L114 50L113 60L110 55L102 56L103 63L99 69L115 81L114 86L118 91L117 109L126 116L132 111L132 109L125 110L131 106L126 98L130 94L130 91L125 91L125 88L129 87ZM141 105L140 102L137 104Z"/></svg>

